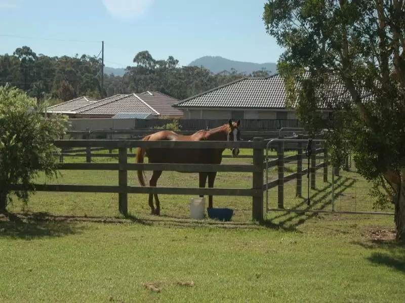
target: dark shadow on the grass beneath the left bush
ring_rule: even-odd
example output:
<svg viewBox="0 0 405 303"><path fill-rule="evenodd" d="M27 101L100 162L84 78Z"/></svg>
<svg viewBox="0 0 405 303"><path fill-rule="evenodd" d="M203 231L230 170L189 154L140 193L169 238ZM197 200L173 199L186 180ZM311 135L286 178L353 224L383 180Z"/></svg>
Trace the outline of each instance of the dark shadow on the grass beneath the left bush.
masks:
<svg viewBox="0 0 405 303"><path fill-rule="evenodd" d="M66 222L42 221L24 218L12 213L0 215L0 237L31 240L76 234L83 228Z"/></svg>

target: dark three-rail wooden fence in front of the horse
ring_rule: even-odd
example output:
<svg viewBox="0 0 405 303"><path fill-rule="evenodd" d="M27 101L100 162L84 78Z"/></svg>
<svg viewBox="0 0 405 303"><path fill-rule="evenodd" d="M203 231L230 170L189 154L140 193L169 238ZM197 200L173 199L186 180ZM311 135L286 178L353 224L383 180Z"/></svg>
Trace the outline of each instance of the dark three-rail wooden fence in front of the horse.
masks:
<svg viewBox="0 0 405 303"><path fill-rule="evenodd" d="M73 185L73 184L36 184L38 191L61 192L112 192L118 193L118 210L128 214L129 193L156 193L156 194L182 194L182 195L227 195L251 196L252 217L263 220L263 170L265 142L263 138L254 141L139 141L139 140L56 140L55 145L60 148L101 147L118 149L118 163L60 163L61 170L115 170L118 171L118 185ZM253 164L249 165L204 165L204 164L155 164L155 163L128 163L128 148L252 148ZM185 187L150 187L128 185L128 170L161 170L183 172L251 172L252 188L185 188ZM19 188L15 185L16 189Z"/></svg>

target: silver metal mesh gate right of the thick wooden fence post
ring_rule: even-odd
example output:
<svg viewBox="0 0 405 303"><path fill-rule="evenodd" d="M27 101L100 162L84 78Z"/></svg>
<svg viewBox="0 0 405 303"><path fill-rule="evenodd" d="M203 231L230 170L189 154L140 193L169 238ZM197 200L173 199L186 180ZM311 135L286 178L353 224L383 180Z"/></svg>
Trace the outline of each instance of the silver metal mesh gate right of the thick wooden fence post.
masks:
<svg viewBox="0 0 405 303"><path fill-rule="evenodd" d="M273 149L273 151L269 149ZM266 212L387 214L374 209L369 182L347 157L329 165L327 141L299 136L269 139L265 157Z"/></svg>

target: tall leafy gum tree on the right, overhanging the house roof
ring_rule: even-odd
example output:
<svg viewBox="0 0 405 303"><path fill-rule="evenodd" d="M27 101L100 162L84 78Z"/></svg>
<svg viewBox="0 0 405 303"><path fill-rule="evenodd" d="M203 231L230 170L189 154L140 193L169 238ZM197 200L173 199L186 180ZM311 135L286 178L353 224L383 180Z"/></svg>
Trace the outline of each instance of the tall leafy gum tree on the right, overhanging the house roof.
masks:
<svg viewBox="0 0 405 303"><path fill-rule="evenodd" d="M335 110L334 161L343 143L352 148L376 205L394 204L405 242L405 1L268 0L263 21L285 49L277 65L288 104L313 131L313 109Z"/></svg>

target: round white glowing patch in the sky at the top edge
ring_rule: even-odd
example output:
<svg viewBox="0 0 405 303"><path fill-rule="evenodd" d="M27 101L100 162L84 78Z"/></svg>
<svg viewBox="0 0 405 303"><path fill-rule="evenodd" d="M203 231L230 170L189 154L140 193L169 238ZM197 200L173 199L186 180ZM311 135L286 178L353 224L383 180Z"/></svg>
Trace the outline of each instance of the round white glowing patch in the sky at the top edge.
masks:
<svg viewBox="0 0 405 303"><path fill-rule="evenodd" d="M103 4L112 16L128 19L143 15L152 1L153 0L103 0Z"/></svg>

